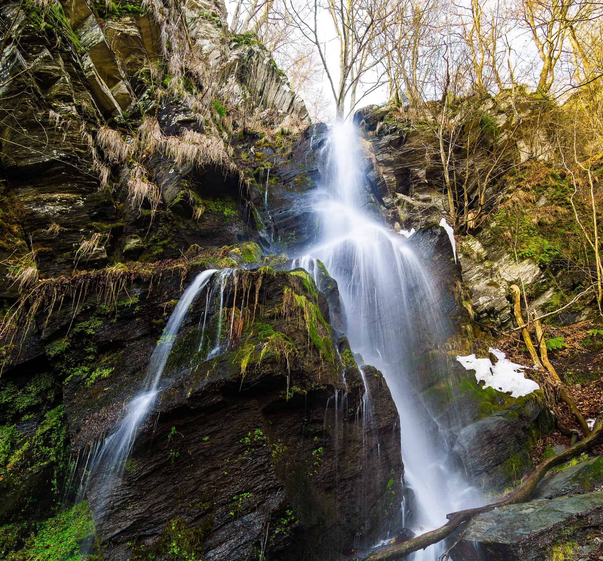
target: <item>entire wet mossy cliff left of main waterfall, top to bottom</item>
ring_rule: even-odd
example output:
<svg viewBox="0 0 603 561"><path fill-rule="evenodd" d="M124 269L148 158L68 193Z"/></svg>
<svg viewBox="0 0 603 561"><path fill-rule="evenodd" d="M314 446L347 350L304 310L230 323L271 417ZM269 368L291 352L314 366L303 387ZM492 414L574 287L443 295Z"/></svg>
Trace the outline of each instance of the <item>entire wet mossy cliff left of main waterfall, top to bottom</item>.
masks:
<svg viewBox="0 0 603 561"><path fill-rule="evenodd" d="M390 391L370 366L362 381L327 271L327 296L283 271L316 235L316 135L225 16L219 1L0 8L3 559L338 559L399 515ZM230 271L224 298L215 273L122 477L81 496L210 268Z"/></svg>

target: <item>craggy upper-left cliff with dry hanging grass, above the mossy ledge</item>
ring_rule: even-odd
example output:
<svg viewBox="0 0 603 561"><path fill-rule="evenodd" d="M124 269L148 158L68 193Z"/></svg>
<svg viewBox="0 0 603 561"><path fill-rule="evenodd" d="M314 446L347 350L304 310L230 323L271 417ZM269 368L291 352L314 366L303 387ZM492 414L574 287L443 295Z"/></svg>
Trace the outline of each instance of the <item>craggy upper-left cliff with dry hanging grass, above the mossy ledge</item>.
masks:
<svg viewBox="0 0 603 561"><path fill-rule="evenodd" d="M0 10L2 274L265 243L232 145L267 130L290 145L308 117L253 35L227 33L223 2L186 2L182 16L160 2Z"/></svg>

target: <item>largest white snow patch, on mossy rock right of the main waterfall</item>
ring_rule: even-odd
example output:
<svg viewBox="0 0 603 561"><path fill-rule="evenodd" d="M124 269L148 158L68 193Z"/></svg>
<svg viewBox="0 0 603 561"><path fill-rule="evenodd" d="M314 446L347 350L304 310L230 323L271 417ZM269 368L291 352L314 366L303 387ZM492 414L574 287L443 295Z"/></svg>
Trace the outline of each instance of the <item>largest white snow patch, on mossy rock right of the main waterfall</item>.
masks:
<svg viewBox="0 0 603 561"><path fill-rule="evenodd" d="M497 359L492 364L489 358L476 358L475 355L468 357L456 357L466 370L475 370L475 379L485 382L484 387L494 388L503 393L511 392L511 397L519 398L528 395L540 386L523 375L526 366L512 363L505 358L505 353L499 349L488 349Z"/></svg>

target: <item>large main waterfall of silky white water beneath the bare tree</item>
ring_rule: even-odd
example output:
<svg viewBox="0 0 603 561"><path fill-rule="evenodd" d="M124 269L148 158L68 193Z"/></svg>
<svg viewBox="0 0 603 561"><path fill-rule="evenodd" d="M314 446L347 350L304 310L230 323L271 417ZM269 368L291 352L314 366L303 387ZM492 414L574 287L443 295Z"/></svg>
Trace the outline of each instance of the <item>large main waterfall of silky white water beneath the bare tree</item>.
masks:
<svg viewBox="0 0 603 561"><path fill-rule="evenodd" d="M446 440L412 389L413 352L421 340L446 338L449 327L438 309L431 273L404 236L370 214L355 127L333 125L323 150L322 188L329 197L315 209L321 233L309 256L296 259L294 266L311 269L316 278L310 264L323 261L339 285L352 350L387 380L400 415L404 483L412 490L408 496L414 496L401 505L403 524L420 534L445 524L447 513L482 502L447 461ZM435 561L444 550L441 542L409 559Z"/></svg>

